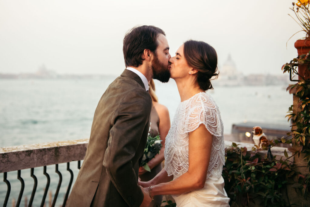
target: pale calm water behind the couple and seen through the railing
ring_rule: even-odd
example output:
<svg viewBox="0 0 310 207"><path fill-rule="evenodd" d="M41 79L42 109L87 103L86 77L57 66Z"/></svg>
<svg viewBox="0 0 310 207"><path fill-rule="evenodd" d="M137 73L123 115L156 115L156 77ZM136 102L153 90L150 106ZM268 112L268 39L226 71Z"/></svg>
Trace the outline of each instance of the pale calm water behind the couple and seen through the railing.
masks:
<svg viewBox="0 0 310 207"><path fill-rule="evenodd" d="M0 147L54 142L87 138L97 103L115 77L105 79L39 80L0 79ZM170 120L173 119L180 98L174 80L169 83L155 81L159 102L168 107ZM224 132L230 133L233 123L244 120L288 125L285 118L292 96L286 86L242 86L215 87L210 94L217 102L224 122ZM76 178L77 163L70 163ZM63 173L63 184L59 198L64 197L69 172L66 164L59 166ZM33 206L39 206L46 177L41 175L43 168L35 168L39 185ZM48 166L51 176L50 190L55 193L58 175L55 166ZM68 172L68 173L67 173ZM28 200L33 187L30 169L22 170L25 180L24 197ZM17 200L20 181L17 172L8 173L11 180L10 202ZM45 182L45 183L44 183ZM0 174L0 205L3 205L6 184ZM42 192L41 192L42 191ZM48 196L47 196L48 201ZM23 205L23 202L21 203ZM57 202L61 205L61 202ZM11 206L9 204L8 206Z"/></svg>

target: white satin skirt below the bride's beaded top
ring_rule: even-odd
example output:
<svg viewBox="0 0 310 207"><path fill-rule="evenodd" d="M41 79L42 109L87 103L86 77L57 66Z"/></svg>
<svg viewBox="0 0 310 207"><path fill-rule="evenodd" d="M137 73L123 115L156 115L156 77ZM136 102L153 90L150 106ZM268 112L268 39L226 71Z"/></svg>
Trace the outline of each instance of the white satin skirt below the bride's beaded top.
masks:
<svg viewBox="0 0 310 207"><path fill-rule="evenodd" d="M181 195L172 195L177 207L201 207L201 206L229 206L230 198L224 189L224 179L210 177L206 179L205 187L190 191Z"/></svg>

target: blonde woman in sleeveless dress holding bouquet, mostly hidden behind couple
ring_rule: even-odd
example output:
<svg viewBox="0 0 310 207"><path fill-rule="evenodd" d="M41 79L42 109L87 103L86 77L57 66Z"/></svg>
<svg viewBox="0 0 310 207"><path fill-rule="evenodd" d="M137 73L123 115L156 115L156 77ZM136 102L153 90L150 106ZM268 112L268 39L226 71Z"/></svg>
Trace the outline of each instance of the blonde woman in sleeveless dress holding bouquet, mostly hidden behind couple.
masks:
<svg viewBox="0 0 310 207"><path fill-rule="evenodd" d="M158 103L158 98L155 94L155 84L153 79L149 82L148 92L152 98L153 107L151 110L151 124L150 124L150 135L155 137L160 136L162 140L162 148L152 160L148 162L148 166L151 169L151 172L146 171L143 167L139 168L139 177L141 181L149 181L153 179L157 173L162 170L162 161L164 160L164 151L165 151L165 139L170 129L170 118L169 112L166 106ZM157 207L161 206L162 195L154 196L154 200L150 203L149 206Z"/></svg>

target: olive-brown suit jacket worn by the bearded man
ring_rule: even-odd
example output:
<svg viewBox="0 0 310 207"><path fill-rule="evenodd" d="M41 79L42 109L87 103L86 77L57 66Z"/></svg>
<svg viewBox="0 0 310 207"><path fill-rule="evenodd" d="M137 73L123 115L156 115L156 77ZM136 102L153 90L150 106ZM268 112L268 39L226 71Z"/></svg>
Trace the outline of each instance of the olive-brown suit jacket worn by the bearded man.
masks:
<svg viewBox="0 0 310 207"><path fill-rule="evenodd" d="M139 206L139 163L148 136L152 100L130 70L116 78L95 110L82 167L67 206Z"/></svg>

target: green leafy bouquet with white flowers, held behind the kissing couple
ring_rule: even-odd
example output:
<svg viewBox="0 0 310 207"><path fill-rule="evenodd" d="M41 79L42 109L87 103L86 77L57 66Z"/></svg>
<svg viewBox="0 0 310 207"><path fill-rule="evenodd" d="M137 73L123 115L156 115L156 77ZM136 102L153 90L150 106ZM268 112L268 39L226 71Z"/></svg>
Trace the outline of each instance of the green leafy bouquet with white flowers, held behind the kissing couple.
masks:
<svg viewBox="0 0 310 207"><path fill-rule="evenodd" d="M152 160L155 155L159 154L159 151L162 148L161 142L162 140L160 139L159 135L156 137L151 137L148 135L148 140L144 149L144 155L140 163L140 166L143 166L144 169L148 172L151 172L151 169L148 166L148 162Z"/></svg>

